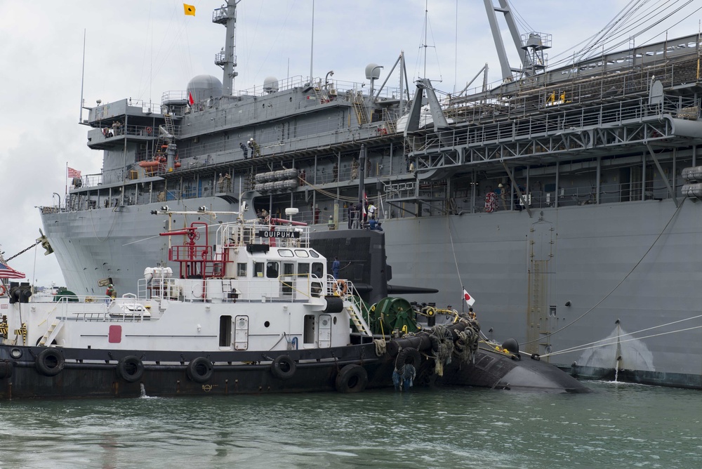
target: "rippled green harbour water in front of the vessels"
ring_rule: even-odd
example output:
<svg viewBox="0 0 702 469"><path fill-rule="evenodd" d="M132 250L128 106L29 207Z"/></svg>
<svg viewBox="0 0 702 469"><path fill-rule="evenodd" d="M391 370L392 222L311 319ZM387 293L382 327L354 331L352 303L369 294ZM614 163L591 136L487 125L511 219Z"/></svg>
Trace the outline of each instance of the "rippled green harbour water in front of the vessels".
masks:
<svg viewBox="0 0 702 469"><path fill-rule="evenodd" d="M391 390L0 404L0 468L701 468L702 392Z"/></svg>

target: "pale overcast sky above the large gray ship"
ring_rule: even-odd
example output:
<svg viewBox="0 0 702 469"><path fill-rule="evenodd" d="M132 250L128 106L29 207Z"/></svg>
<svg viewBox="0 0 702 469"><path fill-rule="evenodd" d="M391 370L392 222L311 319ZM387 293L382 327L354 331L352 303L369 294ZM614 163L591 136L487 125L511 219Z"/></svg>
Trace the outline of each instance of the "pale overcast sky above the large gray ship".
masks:
<svg viewBox="0 0 702 469"><path fill-rule="evenodd" d="M84 105L133 98L159 103L165 91L185 90L190 78L211 74L224 45L225 28L211 22L221 1L190 0L196 15L183 14L172 0L0 0L0 185L3 221L0 246L6 258L39 237L37 206L58 204L67 188L66 164L84 175L99 173L102 153L86 146ZM495 0L495 3L497 1ZM629 0L512 0L528 29L552 34L550 58L572 56L572 46L600 31ZM644 8L654 8L649 1ZM681 0L680 5L686 3ZM695 34L700 0L689 1L669 37ZM668 4L675 4L668 0ZM640 12L643 10L640 10ZM652 10L651 10L652 11ZM658 13L660 16L660 13ZM310 74L312 0L242 0L237 10L237 90ZM673 27L673 23L682 22ZM498 17L503 29L501 16ZM424 74L436 88L460 90L486 63L499 79L484 4L480 0L429 0L425 43L425 0L317 1L314 7L314 77L365 81L364 68L383 65L382 82L400 51L410 83ZM524 32L527 32L524 27ZM654 30L663 32L663 25ZM85 71L82 72L84 32ZM635 44L651 39L642 34ZM658 39L664 39L659 36ZM517 62L505 36L512 62ZM628 41L625 42L628 44ZM424 60L426 51L427 60ZM515 65L515 63L512 63ZM398 79L390 79L397 86ZM84 112L83 117L87 117ZM32 249L9 263L37 284L62 284L55 256Z"/></svg>

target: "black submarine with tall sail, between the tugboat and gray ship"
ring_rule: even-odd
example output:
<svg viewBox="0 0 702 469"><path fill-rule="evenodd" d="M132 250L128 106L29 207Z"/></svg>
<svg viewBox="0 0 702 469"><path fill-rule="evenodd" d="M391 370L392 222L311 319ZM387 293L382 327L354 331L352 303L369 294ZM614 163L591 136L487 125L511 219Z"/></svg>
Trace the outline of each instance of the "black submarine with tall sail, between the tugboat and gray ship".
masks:
<svg viewBox="0 0 702 469"><path fill-rule="evenodd" d="M469 386L496 390L531 392L591 392L565 371L542 362L538 356L519 351L514 339L494 343L473 337L466 340L466 333L479 333L479 323L458 320L456 311L448 312L449 321L436 325L436 315L441 310L431 303L410 303L395 295L437 293L436 289L392 285L392 267L385 254L385 234L377 230L318 230L310 234L311 246L329 262L332 271L334 258L340 263L340 277L353 282L362 300L374 315L371 320L383 322L395 340L388 342L388 355L395 357L396 368L412 364L416 368L414 385L420 386ZM451 321L451 313L455 315ZM426 324L418 321L425 319ZM382 325L381 325L382 326ZM440 328L440 329L439 329ZM439 329L441 333L437 334ZM376 329L378 330L378 329ZM429 332L431 331L431 333ZM446 341L437 340L446 336ZM368 340L357 336L358 341ZM451 354L458 359L441 357L443 345L455 344ZM449 345L450 347L450 345ZM472 350L468 350L472 349ZM418 352L418 353L416 353ZM461 359L463 355L463 359ZM469 359L465 359L469 357Z"/></svg>

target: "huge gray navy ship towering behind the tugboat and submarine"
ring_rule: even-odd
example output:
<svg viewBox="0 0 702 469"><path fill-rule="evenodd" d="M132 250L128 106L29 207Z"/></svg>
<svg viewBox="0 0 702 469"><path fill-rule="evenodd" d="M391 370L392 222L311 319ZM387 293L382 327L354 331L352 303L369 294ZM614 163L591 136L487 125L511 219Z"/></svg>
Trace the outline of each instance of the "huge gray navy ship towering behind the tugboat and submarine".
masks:
<svg viewBox="0 0 702 469"><path fill-rule="evenodd" d="M505 0L485 6L495 86L410 86L399 54L382 81L366 66L370 86L329 72L235 91L227 1L212 16L226 28L222 81L194 77L157 108L87 110L102 172L41 207L69 289L129 291L180 242L159 232L228 221L244 202L319 236L352 239L373 218L393 278L438 289L442 308L475 294L489 337L582 378L702 388L700 35L549 66L548 34L520 33ZM339 260L344 277L360 268Z"/></svg>

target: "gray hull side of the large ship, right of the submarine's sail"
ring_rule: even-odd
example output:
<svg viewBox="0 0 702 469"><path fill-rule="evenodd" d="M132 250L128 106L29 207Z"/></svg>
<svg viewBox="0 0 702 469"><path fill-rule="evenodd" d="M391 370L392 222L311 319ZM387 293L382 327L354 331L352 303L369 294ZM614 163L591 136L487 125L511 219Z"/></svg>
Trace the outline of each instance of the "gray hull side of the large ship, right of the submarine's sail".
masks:
<svg viewBox="0 0 702 469"><path fill-rule="evenodd" d="M647 201L543 209L534 218L504 211L383 225L395 281L439 289L432 297L439 306L462 303L465 286L489 337L514 337L522 350L578 376L614 378L618 371L628 381L702 387L699 204L686 201L678 211L670 201Z"/></svg>

